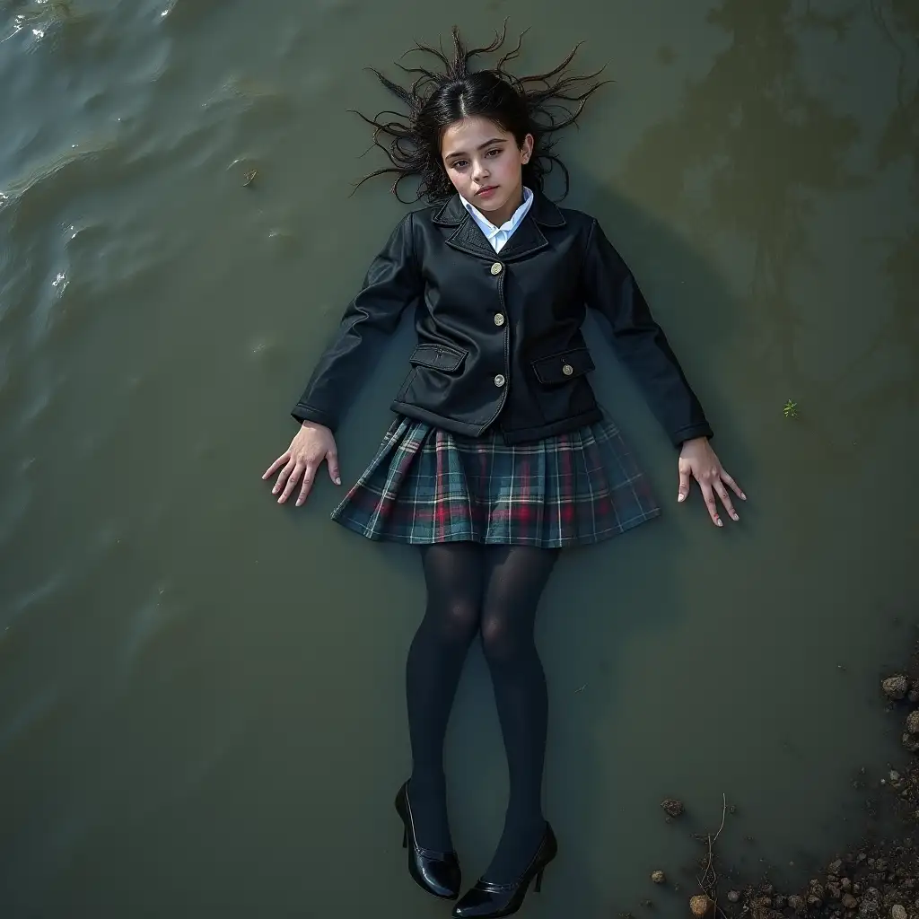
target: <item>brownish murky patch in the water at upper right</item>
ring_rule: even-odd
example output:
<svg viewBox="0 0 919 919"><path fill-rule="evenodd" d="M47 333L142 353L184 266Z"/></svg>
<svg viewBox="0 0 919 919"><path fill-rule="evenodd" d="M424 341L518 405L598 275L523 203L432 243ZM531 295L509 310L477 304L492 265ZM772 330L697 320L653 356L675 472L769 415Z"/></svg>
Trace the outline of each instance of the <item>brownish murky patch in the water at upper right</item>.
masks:
<svg viewBox="0 0 919 919"><path fill-rule="evenodd" d="M630 185L686 221L722 263L718 250L729 251L730 269L749 278L739 304L743 359L753 361L738 374L745 399L763 398L749 390L758 374L774 392L780 386L795 399L806 393L811 406L832 405L839 380L855 369L827 380L801 360L812 317L795 290L818 258L819 206L864 185L847 162L860 136L856 120L835 110L801 65L805 41L845 40L855 16L851 9L819 14L792 0L723 0L709 22L731 44L687 85L677 114L645 134L626 168ZM815 449L801 459L825 465L854 452L830 422L809 416L807 423Z"/></svg>

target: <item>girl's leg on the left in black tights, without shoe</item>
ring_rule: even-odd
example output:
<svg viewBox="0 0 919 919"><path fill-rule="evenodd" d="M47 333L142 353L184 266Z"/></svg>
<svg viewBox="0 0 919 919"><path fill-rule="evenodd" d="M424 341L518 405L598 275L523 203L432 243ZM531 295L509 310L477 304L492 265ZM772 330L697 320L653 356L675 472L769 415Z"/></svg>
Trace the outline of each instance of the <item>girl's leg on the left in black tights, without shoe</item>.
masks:
<svg viewBox="0 0 919 919"><path fill-rule="evenodd" d="M447 820L444 737L463 661L479 630L482 547L438 543L421 550L427 585L425 618L415 633L405 667L412 778L408 794L418 844L453 848Z"/></svg>

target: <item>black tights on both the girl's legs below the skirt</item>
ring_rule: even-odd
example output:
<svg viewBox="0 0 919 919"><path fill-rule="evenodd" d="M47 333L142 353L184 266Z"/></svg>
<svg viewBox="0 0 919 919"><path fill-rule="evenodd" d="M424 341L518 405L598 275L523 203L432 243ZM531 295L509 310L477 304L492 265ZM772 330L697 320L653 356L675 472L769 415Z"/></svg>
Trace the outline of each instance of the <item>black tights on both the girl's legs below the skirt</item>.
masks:
<svg viewBox="0 0 919 919"><path fill-rule="evenodd" d="M444 780L444 736L459 675L481 631L505 739L510 800L505 828L484 877L516 879L545 828L542 767L546 750L546 678L533 638L536 608L559 550L440 543L422 549L425 618L406 666L412 740L412 804L418 842L452 848Z"/></svg>

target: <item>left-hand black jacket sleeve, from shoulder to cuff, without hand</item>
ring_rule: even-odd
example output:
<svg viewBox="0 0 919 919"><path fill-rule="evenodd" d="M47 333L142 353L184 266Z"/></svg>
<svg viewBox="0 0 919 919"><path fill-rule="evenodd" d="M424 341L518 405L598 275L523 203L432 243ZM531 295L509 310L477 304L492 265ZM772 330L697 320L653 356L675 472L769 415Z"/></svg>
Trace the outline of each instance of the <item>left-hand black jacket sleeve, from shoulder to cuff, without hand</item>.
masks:
<svg viewBox="0 0 919 919"><path fill-rule="evenodd" d="M290 414L298 421L335 430L379 359L383 336L396 330L406 307L421 293L421 273L414 258L413 215L409 213L368 268L360 292L348 304L338 331Z"/></svg>

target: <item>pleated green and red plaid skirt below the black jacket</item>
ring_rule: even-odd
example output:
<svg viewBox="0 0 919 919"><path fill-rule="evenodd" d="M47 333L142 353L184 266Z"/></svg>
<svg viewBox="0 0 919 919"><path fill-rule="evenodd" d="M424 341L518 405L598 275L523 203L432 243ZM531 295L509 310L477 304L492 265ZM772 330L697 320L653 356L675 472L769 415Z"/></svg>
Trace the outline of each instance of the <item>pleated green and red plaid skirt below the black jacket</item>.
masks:
<svg viewBox="0 0 919 919"><path fill-rule="evenodd" d="M605 420L528 444L462 437L398 416L332 519L368 539L559 548L661 513Z"/></svg>

